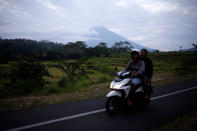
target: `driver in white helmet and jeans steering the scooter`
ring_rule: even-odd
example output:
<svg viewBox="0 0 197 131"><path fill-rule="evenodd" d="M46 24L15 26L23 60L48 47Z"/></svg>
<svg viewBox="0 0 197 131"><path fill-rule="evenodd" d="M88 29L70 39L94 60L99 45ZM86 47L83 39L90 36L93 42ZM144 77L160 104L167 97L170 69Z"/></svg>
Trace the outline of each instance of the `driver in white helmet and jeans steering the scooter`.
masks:
<svg viewBox="0 0 197 131"><path fill-rule="evenodd" d="M131 71L131 90L135 89L135 86L141 83L141 78L145 71L145 64L140 60L140 53L138 49L133 49L131 51L132 61L125 68L127 71ZM131 100L128 99L128 104L131 105Z"/></svg>

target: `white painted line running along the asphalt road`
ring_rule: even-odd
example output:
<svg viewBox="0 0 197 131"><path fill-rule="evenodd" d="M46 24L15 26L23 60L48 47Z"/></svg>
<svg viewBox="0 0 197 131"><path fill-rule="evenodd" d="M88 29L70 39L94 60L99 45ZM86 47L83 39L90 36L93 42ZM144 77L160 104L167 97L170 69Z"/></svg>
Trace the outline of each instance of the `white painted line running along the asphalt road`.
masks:
<svg viewBox="0 0 197 131"><path fill-rule="evenodd" d="M170 95L186 92L186 91L193 90L193 89L197 89L197 86L191 87L191 88L188 88L188 89L184 89L184 90L180 90L180 91L176 91L176 92L169 93L169 94L164 94L164 95L161 95L161 96L156 96L156 97L151 98L151 100L160 99L160 98L163 98L163 97L167 97L167 96L170 96ZM45 121L45 122L40 122L40 123L36 123L36 124L31 124L31 125L27 125L27 126L22 126L22 127L18 127L18 128L8 129L7 131L25 130L25 129L29 129L29 128L33 128L33 127L43 126L43 125L47 125L47 124L51 124L51 123L55 123L55 122L59 122L59 121L69 120L69 119L78 118L78 117L82 117L82 116L87 116L87 115L91 115L91 114L95 114L95 113L99 113L99 112L104 112L104 111L105 111L105 108L100 109L100 110L85 112L85 113L81 113L81 114L77 114L77 115L66 116L66 117L62 117L62 118L58 118L58 119L54 119L54 120L49 120L49 121Z"/></svg>

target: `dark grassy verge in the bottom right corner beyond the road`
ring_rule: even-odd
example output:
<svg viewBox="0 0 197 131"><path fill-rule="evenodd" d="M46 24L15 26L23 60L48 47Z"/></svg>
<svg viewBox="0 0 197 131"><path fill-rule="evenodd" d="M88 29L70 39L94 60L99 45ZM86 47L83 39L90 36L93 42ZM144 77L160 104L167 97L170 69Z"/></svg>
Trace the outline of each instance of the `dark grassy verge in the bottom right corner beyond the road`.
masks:
<svg viewBox="0 0 197 131"><path fill-rule="evenodd" d="M197 131L197 110L181 115L151 131Z"/></svg>

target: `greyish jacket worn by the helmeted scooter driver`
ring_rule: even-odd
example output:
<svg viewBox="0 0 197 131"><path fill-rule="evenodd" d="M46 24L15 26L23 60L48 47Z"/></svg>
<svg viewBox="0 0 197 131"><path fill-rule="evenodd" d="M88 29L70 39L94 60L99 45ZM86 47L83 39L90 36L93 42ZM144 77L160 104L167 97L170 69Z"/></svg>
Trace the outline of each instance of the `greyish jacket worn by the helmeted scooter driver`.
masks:
<svg viewBox="0 0 197 131"><path fill-rule="evenodd" d="M131 73L138 73L138 77L143 76L145 71L145 64L141 60L131 61L129 65L125 68L127 71L131 71Z"/></svg>

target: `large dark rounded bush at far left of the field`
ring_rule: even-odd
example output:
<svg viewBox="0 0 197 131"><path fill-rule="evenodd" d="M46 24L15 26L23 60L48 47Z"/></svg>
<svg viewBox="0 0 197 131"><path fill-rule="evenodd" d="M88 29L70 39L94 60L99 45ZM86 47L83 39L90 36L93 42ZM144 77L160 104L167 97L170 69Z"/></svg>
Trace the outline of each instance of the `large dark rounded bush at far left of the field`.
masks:
<svg viewBox="0 0 197 131"><path fill-rule="evenodd" d="M44 76L50 76L48 70L40 63L19 62L8 73L10 81L5 84L10 95L27 95L40 90L46 84Z"/></svg>

